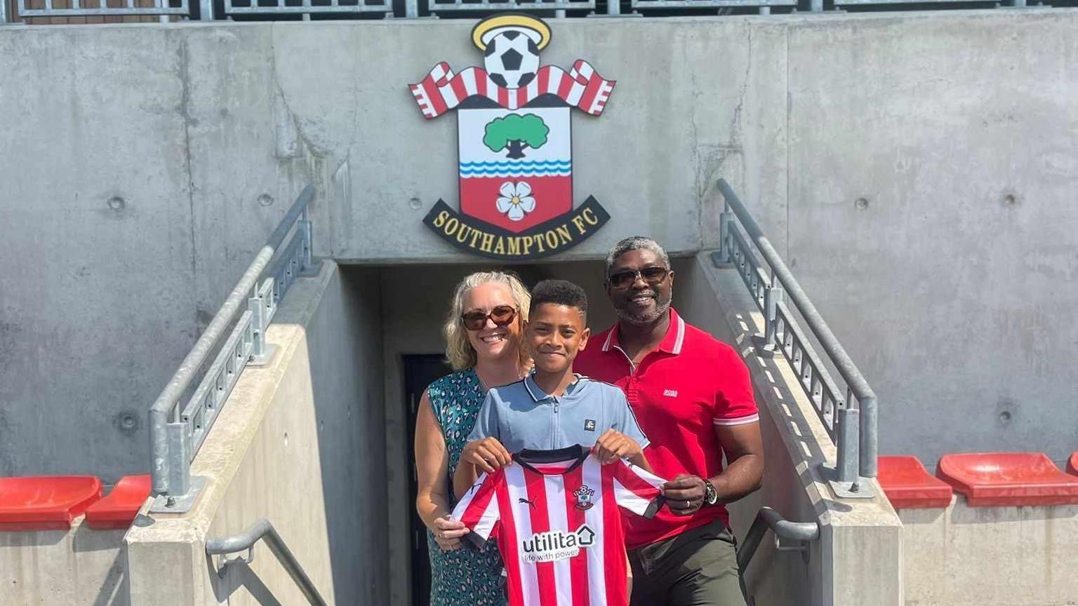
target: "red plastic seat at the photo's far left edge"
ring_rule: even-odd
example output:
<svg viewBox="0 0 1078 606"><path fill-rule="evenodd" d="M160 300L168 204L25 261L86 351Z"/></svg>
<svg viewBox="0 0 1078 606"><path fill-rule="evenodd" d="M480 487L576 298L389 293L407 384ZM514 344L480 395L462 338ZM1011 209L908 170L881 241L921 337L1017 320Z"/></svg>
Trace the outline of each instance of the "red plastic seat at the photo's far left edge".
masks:
<svg viewBox="0 0 1078 606"><path fill-rule="evenodd" d="M0 478L0 531L67 531L99 498L94 476Z"/></svg>

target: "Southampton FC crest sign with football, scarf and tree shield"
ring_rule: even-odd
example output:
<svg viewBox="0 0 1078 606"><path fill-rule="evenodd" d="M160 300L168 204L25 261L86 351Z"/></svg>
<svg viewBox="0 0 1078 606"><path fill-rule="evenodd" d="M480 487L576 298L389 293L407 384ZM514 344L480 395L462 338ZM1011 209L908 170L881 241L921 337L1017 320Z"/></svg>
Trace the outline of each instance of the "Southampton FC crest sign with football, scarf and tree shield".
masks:
<svg viewBox="0 0 1078 606"><path fill-rule="evenodd" d="M582 59L568 72L540 67L550 40L540 18L494 15L472 29L484 67L454 73L440 63L410 85L428 120L457 114L460 210L439 199L423 222L462 250L536 259L580 244L610 219L592 196L573 209L570 114L602 115L614 82Z"/></svg>

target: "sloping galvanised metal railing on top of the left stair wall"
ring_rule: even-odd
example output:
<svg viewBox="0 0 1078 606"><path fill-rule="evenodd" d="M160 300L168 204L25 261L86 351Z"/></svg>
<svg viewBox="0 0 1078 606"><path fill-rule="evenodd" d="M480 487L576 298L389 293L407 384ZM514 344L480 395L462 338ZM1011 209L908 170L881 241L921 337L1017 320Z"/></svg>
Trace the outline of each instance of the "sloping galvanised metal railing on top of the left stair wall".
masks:
<svg viewBox="0 0 1078 606"><path fill-rule="evenodd" d="M295 278L317 273L307 215L314 195L314 187L303 189L150 408L150 477L155 497L151 512L191 509L205 483L204 478L191 476L191 462L244 369L264 366L273 358L274 346L265 342L265 331L277 304Z"/></svg>

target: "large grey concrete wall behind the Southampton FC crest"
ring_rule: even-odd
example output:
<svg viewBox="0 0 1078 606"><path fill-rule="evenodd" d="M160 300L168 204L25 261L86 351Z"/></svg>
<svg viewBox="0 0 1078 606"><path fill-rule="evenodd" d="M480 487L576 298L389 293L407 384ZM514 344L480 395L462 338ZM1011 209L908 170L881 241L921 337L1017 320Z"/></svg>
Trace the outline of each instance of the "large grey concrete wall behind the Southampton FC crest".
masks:
<svg viewBox="0 0 1078 606"><path fill-rule="evenodd" d="M618 80L605 115L573 119L576 196L613 218L567 258L636 232L714 245L724 176L875 386L881 452L1059 459L1078 433L1076 24L558 22L544 63ZM405 85L479 64L470 27L3 28L0 472L146 471L146 407L307 182L328 192L321 253L467 261L420 225L456 204L455 118L425 121Z"/></svg>

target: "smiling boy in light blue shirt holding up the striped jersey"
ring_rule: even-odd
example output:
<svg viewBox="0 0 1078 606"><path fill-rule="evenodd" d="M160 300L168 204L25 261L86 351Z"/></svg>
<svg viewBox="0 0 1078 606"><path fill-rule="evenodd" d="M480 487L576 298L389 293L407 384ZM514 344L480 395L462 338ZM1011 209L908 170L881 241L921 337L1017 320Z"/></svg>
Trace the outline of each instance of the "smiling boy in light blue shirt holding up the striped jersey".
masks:
<svg viewBox="0 0 1078 606"><path fill-rule="evenodd" d="M535 370L523 381L492 388L460 454L454 493L464 495L480 471L494 473L522 450L592 447L603 464L626 458L647 471L648 439L621 389L573 374L588 345L588 295L566 280L542 280L531 291L524 345Z"/></svg>

